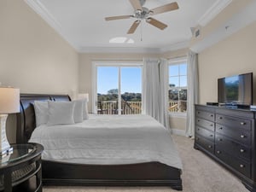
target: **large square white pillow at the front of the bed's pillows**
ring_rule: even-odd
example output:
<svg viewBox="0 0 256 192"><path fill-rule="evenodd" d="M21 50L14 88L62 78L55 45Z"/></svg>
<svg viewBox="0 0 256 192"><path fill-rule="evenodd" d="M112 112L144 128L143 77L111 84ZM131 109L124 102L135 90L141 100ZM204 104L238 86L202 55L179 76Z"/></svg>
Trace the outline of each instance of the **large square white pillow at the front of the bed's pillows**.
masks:
<svg viewBox="0 0 256 192"><path fill-rule="evenodd" d="M74 124L74 102L48 102L49 119L47 125Z"/></svg>

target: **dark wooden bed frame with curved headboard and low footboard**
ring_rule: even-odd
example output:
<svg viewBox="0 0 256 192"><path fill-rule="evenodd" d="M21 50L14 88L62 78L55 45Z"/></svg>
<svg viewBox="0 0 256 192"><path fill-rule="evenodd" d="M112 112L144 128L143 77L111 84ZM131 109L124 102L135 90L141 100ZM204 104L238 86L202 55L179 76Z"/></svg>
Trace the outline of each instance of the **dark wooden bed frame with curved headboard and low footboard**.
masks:
<svg viewBox="0 0 256 192"><path fill-rule="evenodd" d="M67 95L20 94L17 143L27 143L36 127L34 101L70 101ZM182 190L180 169L159 162L128 165L82 165L42 161L45 185L170 186Z"/></svg>

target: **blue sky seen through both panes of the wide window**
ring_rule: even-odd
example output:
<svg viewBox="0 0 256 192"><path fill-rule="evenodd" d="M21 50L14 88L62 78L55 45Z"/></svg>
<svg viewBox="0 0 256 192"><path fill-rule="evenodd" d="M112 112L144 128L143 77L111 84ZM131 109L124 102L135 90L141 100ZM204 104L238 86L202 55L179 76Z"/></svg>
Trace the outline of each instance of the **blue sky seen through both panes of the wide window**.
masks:
<svg viewBox="0 0 256 192"><path fill-rule="evenodd" d="M121 67L121 94L142 92L142 67ZM119 67L97 67L97 93L119 87Z"/></svg>

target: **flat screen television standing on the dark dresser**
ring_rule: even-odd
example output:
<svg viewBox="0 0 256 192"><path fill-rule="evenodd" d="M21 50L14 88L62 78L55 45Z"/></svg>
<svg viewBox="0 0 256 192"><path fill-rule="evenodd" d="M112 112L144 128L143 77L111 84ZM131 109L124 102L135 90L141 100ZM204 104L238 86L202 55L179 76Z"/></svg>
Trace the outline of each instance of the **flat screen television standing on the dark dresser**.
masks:
<svg viewBox="0 0 256 192"><path fill-rule="evenodd" d="M218 79L218 103L236 106L253 104L253 73Z"/></svg>

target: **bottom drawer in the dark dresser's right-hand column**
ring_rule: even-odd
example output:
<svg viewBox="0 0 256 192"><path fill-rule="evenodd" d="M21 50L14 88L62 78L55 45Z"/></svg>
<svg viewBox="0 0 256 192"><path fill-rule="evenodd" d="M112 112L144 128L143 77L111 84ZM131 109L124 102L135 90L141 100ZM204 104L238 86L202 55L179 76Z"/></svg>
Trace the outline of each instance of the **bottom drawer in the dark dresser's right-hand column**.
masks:
<svg viewBox="0 0 256 192"><path fill-rule="evenodd" d="M224 161L225 164L236 169L237 172L241 172L241 174L246 177L251 177L251 164L245 160L238 159L230 154L224 152L224 150L218 146L215 146L215 155L219 160Z"/></svg>

